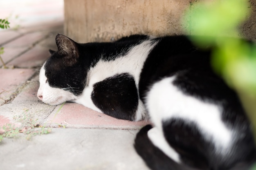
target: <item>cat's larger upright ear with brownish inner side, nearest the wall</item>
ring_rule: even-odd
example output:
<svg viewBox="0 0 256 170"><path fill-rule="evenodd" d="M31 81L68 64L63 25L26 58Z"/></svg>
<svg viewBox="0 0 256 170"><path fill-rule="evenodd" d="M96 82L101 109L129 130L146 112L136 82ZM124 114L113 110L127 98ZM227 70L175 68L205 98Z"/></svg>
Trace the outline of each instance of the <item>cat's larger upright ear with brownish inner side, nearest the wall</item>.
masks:
<svg viewBox="0 0 256 170"><path fill-rule="evenodd" d="M56 36L56 44L58 53L63 55L63 61L67 66L72 66L77 62L79 54L76 42L65 35L58 34Z"/></svg>

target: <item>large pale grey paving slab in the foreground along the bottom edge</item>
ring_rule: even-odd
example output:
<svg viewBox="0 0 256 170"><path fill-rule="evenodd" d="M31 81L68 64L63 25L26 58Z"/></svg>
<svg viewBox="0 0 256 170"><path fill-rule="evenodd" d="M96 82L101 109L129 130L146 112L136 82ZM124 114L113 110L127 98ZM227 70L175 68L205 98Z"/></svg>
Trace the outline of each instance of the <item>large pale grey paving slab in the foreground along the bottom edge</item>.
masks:
<svg viewBox="0 0 256 170"><path fill-rule="evenodd" d="M137 130L53 128L0 143L1 170L148 170L133 148Z"/></svg>

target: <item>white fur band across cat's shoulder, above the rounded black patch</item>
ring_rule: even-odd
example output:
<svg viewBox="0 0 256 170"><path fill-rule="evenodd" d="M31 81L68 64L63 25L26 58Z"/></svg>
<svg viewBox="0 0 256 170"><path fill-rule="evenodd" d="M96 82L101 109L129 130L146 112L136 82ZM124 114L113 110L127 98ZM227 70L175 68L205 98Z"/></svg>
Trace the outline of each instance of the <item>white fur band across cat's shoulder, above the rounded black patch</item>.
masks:
<svg viewBox="0 0 256 170"><path fill-rule="evenodd" d="M88 73L88 86L115 74L129 73L135 78L135 84L138 87L141 69L148 54L156 44L157 42L152 44L152 40L145 40L132 47L124 56L111 61L100 60Z"/></svg>

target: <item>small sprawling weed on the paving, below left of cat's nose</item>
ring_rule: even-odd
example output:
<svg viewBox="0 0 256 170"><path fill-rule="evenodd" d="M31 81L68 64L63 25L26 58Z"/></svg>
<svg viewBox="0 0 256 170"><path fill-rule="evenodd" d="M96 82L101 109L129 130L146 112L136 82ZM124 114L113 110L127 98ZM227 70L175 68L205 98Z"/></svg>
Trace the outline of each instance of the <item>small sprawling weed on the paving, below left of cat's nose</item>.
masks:
<svg viewBox="0 0 256 170"><path fill-rule="evenodd" d="M51 132L51 128L37 124L38 119L33 119L33 115L28 111L28 109L25 109L21 115L15 115L13 117L15 123L0 127L0 142L7 137L18 137L20 133L23 133L26 139L29 140L35 135L43 135Z"/></svg>

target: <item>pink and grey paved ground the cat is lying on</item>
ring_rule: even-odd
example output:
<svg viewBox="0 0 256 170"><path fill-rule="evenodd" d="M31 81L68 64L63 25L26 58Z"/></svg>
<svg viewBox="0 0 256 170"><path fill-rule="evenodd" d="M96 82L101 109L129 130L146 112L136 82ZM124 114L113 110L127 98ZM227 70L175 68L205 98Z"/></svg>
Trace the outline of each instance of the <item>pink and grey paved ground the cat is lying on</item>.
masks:
<svg viewBox="0 0 256 170"><path fill-rule="evenodd" d="M63 1L2 1L0 18L6 17L11 28L0 30L0 47L9 68L0 68L0 126L32 121L51 132L4 139L0 169L147 170L133 140L148 122L114 119L74 103L49 106L36 97L40 66L48 49L56 50L55 35L63 33ZM27 117L17 123L14 116Z"/></svg>

